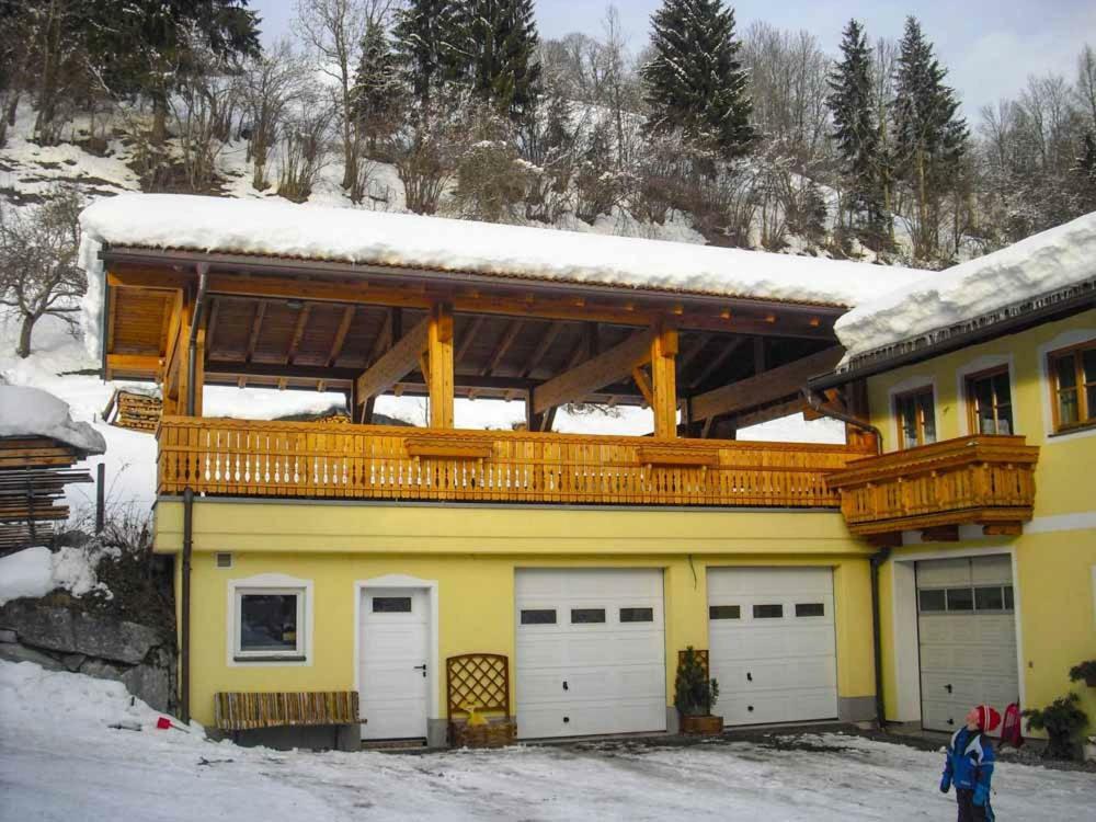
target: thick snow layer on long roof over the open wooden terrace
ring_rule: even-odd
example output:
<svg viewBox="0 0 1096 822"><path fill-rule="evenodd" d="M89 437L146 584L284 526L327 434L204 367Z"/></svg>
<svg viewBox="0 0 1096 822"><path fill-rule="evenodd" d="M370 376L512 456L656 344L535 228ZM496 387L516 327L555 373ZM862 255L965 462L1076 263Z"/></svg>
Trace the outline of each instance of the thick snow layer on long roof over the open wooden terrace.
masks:
<svg viewBox="0 0 1096 822"><path fill-rule="evenodd" d="M356 208L123 194L81 216L113 247L262 254L746 299L855 306L925 272Z"/></svg>

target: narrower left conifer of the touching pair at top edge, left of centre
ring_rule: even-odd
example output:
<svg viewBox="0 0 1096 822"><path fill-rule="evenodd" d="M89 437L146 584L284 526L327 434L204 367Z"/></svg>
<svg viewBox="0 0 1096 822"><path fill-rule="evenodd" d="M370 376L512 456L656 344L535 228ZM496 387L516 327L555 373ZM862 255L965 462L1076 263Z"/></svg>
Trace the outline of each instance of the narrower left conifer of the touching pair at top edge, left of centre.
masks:
<svg viewBox="0 0 1096 822"><path fill-rule="evenodd" d="M460 8L456 0L410 0L392 28L397 64L424 107L464 72Z"/></svg>

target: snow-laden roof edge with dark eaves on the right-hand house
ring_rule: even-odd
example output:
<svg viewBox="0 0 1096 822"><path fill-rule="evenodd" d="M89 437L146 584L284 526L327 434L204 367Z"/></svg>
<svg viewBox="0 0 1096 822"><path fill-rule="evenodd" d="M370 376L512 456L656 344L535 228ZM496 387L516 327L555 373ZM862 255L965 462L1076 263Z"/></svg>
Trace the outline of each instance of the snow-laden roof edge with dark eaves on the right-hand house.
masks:
<svg viewBox="0 0 1096 822"><path fill-rule="evenodd" d="M834 324L846 351L838 372L878 370L1094 306L1096 212L858 305Z"/></svg>

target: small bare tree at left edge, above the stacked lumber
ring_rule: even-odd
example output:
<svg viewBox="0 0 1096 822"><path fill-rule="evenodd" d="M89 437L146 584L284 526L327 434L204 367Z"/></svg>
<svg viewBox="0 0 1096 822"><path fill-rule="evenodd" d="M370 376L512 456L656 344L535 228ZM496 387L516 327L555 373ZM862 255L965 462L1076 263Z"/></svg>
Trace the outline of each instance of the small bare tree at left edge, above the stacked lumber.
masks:
<svg viewBox="0 0 1096 822"><path fill-rule="evenodd" d="M31 335L43 317L73 324L88 281L77 265L80 210L72 191L19 212L0 202L0 307L20 319L15 353L31 354Z"/></svg>

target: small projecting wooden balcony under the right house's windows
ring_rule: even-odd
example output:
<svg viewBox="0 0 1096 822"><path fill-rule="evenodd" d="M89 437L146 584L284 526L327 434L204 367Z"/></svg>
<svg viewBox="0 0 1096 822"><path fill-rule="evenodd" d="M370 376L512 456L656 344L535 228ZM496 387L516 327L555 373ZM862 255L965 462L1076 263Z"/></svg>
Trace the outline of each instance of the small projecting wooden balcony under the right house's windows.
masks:
<svg viewBox="0 0 1096 822"><path fill-rule="evenodd" d="M952 541L960 525L1020 533L1031 518L1038 458L1021 436L966 436L859 459L826 481L854 534L887 543L921 530Z"/></svg>

